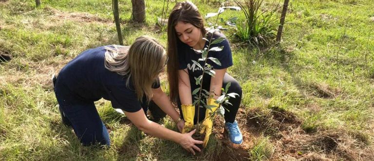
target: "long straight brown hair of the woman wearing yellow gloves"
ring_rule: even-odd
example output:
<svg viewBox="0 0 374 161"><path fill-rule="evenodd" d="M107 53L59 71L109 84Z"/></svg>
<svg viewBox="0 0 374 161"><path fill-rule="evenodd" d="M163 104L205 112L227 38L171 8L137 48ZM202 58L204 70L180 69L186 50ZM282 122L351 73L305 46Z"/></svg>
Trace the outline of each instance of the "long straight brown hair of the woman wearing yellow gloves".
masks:
<svg viewBox="0 0 374 161"><path fill-rule="evenodd" d="M190 1L178 2L170 12L168 19L168 82L170 88L170 100L177 101L178 98L178 80L179 80L179 60L178 60L178 46L183 42L179 40L175 25L181 21L184 23L191 23L195 27L201 29L203 36L206 34L204 28L204 19L201 16L196 5Z"/></svg>

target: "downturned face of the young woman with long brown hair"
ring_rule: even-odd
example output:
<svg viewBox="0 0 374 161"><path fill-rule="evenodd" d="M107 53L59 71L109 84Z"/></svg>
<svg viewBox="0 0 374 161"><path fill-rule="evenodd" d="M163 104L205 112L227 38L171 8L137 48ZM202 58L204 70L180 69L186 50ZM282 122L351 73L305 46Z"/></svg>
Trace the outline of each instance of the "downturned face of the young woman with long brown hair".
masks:
<svg viewBox="0 0 374 161"><path fill-rule="evenodd" d="M175 32L179 40L192 48L201 49L201 47L204 47L205 41L203 40L201 29L195 27L191 23L179 21L177 25L175 25Z"/></svg>

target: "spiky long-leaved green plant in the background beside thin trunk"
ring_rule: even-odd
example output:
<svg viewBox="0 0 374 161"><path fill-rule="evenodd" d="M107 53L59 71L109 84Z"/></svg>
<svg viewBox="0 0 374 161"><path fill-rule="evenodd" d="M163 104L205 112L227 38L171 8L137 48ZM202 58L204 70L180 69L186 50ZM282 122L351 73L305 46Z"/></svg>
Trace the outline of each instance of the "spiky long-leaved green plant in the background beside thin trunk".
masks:
<svg viewBox="0 0 374 161"><path fill-rule="evenodd" d="M236 29L231 34L234 40L247 43L252 47L265 47L276 38L276 31L280 25L277 11L281 8L278 4L275 8L261 11L263 0L234 0L242 8L245 16L244 23L232 22Z"/></svg>

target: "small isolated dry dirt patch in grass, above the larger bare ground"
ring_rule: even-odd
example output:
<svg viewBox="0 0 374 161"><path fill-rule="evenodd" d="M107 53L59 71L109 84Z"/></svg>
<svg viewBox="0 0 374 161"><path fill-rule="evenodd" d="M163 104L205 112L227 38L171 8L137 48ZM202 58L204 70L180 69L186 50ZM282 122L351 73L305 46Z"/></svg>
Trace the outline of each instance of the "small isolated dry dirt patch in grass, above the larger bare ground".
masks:
<svg viewBox="0 0 374 161"><path fill-rule="evenodd" d="M331 88L326 83L312 83L309 87L315 90L312 94L319 98L336 98L341 93L340 89Z"/></svg>

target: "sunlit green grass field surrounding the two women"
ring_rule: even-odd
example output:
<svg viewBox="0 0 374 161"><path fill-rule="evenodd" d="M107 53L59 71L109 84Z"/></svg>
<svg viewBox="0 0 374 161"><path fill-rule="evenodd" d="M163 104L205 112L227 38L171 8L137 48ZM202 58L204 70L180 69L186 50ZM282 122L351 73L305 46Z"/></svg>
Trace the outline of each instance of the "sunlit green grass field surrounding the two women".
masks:
<svg viewBox="0 0 374 161"><path fill-rule="evenodd" d="M205 15L224 0L192 1ZM120 0L126 45L150 35L166 46L156 25L163 2L147 0L146 22L133 24L131 0ZM228 143L217 118L204 156L192 157L140 132L104 100L96 106L112 146L80 145L60 121L50 77L81 51L117 43L111 3L43 0L36 8L34 0L0 0L0 54L12 58L0 62L0 160L374 160L373 0L290 0L279 45L231 43L228 73L243 87L242 145ZM243 21L241 12L222 14L233 16ZM176 130L169 118L163 124Z"/></svg>

